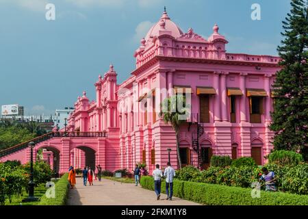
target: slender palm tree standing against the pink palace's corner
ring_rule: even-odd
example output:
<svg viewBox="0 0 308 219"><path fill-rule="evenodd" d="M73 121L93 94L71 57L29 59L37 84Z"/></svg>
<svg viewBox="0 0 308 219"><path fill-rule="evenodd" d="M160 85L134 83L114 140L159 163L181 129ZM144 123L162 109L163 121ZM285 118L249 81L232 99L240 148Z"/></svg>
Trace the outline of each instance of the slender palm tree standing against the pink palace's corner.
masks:
<svg viewBox="0 0 308 219"><path fill-rule="evenodd" d="M177 139L177 160L179 162L179 168L181 168L182 163L179 153L179 129L181 125L186 122L182 116L188 112L189 105L182 105L181 109L178 109L179 105L177 103L185 103L185 96L178 94L164 99L161 107L162 111L159 112L159 117L163 118L165 123L169 123L175 130L175 137Z"/></svg>

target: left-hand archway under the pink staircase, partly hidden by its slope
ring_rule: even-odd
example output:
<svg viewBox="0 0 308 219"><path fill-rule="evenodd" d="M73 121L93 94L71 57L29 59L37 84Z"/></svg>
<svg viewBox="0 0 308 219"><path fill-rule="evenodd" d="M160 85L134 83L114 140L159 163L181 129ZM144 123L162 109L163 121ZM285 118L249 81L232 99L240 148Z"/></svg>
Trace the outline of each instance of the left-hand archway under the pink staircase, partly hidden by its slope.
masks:
<svg viewBox="0 0 308 219"><path fill-rule="evenodd" d="M39 155L39 151L41 152ZM60 172L60 151L53 146L43 146L36 150L38 160L49 164L53 170L55 178L59 177Z"/></svg>

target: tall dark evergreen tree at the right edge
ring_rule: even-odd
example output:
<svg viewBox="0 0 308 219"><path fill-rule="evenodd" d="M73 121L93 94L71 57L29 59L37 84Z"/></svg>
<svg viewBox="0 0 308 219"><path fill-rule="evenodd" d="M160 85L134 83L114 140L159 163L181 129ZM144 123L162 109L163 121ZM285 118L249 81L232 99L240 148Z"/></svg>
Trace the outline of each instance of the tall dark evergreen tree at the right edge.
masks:
<svg viewBox="0 0 308 219"><path fill-rule="evenodd" d="M274 149L300 151L308 158L308 2L292 0L278 47L282 69L274 82Z"/></svg>

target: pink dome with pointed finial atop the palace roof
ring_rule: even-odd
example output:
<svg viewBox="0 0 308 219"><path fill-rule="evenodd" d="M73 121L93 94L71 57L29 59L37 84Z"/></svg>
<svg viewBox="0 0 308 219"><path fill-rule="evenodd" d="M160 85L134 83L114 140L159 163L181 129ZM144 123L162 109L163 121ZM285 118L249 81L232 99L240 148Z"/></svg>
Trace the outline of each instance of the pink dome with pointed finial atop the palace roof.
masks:
<svg viewBox="0 0 308 219"><path fill-rule="evenodd" d="M165 11L159 22L151 27L144 40L148 41L151 36L159 36L159 30L162 30L162 21L164 21L164 30L171 31L171 36L174 38L178 38L181 36L181 34L183 34L183 31L173 21L170 20L167 12Z"/></svg>

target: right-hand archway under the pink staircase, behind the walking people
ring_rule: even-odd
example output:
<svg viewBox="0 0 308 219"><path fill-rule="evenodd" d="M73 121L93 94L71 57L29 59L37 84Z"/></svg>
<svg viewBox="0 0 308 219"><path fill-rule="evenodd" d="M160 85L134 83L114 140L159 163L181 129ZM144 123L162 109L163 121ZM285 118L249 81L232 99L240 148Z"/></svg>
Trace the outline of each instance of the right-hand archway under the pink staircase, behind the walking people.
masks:
<svg viewBox="0 0 308 219"><path fill-rule="evenodd" d="M70 151L70 165L83 169L90 166L92 170L96 168L96 151L89 146L77 146Z"/></svg>

